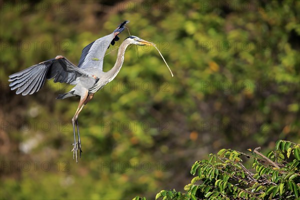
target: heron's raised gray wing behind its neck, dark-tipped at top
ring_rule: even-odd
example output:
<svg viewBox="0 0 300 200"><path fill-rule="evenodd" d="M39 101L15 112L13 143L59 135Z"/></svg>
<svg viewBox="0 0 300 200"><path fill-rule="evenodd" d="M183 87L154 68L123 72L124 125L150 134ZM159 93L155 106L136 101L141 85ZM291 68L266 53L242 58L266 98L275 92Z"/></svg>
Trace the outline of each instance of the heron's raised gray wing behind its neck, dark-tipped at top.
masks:
<svg viewBox="0 0 300 200"><path fill-rule="evenodd" d="M115 41L119 40L117 35L125 29L125 24L128 22L124 21L112 33L85 46L82 49L78 67L85 70L94 68L102 70L103 58L109 44L113 45Z"/></svg>

